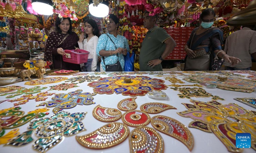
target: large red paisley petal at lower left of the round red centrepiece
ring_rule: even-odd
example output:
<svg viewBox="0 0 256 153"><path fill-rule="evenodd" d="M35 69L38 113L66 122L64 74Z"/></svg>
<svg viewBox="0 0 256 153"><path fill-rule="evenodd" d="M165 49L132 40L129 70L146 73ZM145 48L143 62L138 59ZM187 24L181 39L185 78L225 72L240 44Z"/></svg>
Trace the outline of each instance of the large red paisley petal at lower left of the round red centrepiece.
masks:
<svg viewBox="0 0 256 153"><path fill-rule="evenodd" d="M87 135L76 136L76 141L91 149L106 149L122 143L129 135L127 125L108 123Z"/></svg>

